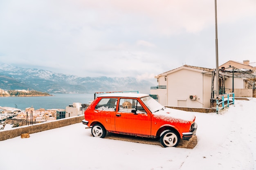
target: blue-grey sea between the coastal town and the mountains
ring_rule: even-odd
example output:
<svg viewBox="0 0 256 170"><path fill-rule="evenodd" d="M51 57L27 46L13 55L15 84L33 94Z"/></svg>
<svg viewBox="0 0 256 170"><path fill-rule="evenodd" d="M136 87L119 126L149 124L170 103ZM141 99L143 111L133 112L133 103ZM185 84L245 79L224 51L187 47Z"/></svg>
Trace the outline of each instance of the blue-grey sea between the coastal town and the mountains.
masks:
<svg viewBox="0 0 256 170"><path fill-rule="evenodd" d="M39 97L0 97L0 107L12 107L20 110L35 108L35 110L66 109L73 103L89 104L94 100L94 93L84 94L51 94L53 96Z"/></svg>

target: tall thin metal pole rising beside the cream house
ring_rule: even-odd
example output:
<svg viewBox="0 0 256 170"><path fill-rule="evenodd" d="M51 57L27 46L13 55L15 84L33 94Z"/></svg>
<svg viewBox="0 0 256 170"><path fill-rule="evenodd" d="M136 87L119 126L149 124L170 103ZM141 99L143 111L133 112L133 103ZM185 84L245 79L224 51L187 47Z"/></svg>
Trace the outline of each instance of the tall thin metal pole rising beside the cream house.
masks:
<svg viewBox="0 0 256 170"><path fill-rule="evenodd" d="M218 97L219 95L219 61L218 61L217 0L215 0L215 48L216 48L216 95Z"/></svg>

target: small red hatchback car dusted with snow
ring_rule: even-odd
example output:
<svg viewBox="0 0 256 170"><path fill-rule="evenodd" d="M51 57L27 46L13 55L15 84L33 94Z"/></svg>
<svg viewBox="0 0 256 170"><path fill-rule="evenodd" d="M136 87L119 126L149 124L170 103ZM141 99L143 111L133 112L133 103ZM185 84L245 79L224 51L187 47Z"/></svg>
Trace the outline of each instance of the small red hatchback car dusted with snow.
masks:
<svg viewBox="0 0 256 170"><path fill-rule="evenodd" d="M125 135L157 138L162 146L177 146L180 139L195 135L195 116L166 108L146 94L108 93L99 95L85 110L83 124L92 136L104 138L107 131Z"/></svg>

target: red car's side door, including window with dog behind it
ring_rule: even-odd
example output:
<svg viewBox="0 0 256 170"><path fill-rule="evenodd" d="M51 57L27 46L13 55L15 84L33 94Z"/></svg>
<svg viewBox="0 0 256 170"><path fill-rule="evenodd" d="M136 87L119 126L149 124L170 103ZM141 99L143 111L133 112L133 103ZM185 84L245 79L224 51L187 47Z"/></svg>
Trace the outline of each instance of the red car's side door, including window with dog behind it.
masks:
<svg viewBox="0 0 256 170"><path fill-rule="evenodd" d="M150 136L151 116L137 99L120 98L115 116L115 129L123 134Z"/></svg>

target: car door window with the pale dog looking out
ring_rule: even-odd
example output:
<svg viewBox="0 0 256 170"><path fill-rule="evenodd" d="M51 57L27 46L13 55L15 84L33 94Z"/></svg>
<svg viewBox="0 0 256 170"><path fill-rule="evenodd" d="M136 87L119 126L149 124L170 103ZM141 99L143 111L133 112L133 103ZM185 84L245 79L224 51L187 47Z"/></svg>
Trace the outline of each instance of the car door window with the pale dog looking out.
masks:
<svg viewBox="0 0 256 170"><path fill-rule="evenodd" d="M119 100L119 112L132 113L132 110L136 110L136 113L146 113L144 108L139 104L137 99L120 99Z"/></svg>

